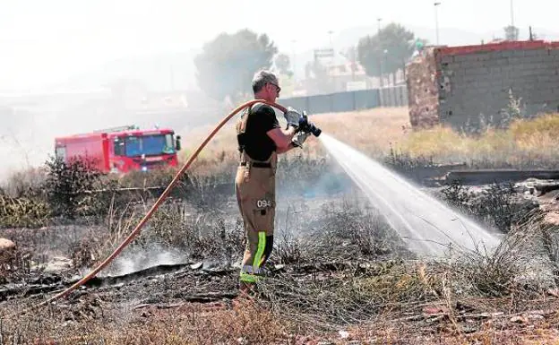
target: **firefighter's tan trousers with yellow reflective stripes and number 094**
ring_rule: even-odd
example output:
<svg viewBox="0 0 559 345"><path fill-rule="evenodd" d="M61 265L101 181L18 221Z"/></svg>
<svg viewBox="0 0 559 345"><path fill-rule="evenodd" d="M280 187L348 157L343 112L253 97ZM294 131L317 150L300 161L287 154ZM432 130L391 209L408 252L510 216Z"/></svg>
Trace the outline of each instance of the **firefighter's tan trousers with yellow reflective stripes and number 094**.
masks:
<svg viewBox="0 0 559 345"><path fill-rule="evenodd" d="M246 237L240 273L242 283L254 283L271 254L277 161L276 152L272 152L266 161L254 161L243 152L236 170L236 200L245 223Z"/></svg>

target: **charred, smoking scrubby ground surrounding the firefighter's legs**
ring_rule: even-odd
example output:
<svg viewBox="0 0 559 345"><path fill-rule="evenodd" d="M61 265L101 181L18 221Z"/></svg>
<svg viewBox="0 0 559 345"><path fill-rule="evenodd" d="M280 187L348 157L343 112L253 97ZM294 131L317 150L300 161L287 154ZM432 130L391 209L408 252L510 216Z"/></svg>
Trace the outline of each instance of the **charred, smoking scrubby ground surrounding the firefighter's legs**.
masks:
<svg viewBox="0 0 559 345"><path fill-rule="evenodd" d="M280 161L268 277L259 298L239 298L244 246L234 166L203 174L201 162L106 270L68 298L10 317L105 259L161 192L146 186L164 186L174 173L111 179L51 164L2 194L0 237L17 249L1 267L0 344L507 344L556 337L559 242L546 219L555 192L530 192L538 181L429 182L434 171L444 175L434 160L397 151L380 160L499 231L502 246L495 254L418 258L328 157L295 154Z"/></svg>

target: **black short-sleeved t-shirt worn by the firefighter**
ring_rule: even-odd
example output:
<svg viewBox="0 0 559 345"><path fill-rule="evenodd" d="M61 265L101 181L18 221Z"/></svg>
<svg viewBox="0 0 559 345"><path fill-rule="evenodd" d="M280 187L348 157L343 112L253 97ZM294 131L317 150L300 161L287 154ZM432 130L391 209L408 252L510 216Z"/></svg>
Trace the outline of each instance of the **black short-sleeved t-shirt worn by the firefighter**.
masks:
<svg viewBox="0 0 559 345"><path fill-rule="evenodd" d="M276 112L270 106L257 104L251 109L246 121L245 151L253 160L268 160L276 144L266 134L273 128L280 128Z"/></svg>

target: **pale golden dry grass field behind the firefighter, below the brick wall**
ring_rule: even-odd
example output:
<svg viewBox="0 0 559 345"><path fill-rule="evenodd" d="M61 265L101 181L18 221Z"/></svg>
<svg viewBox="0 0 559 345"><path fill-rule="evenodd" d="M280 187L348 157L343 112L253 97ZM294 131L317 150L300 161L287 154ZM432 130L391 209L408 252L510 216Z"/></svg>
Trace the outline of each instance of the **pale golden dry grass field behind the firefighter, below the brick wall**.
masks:
<svg viewBox="0 0 559 345"><path fill-rule="evenodd" d="M484 164L495 167L555 167L559 156L559 114L535 119L515 120L506 130L487 128L480 135L460 134L444 125L413 131L409 125L408 108L376 108L347 113L310 115L311 121L329 134L368 155L379 158L391 148L405 152L410 158L431 158L435 163ZM236 162L234 119L225 125L202 151L193 165L193 172L211 174L230 169ZM185 161L209 134L211 126L186 134ZM295 151L310 159L323 157L323 146L314 137L307 140L303 151ZM289 153L287 157L292 157Z"/></svg>

